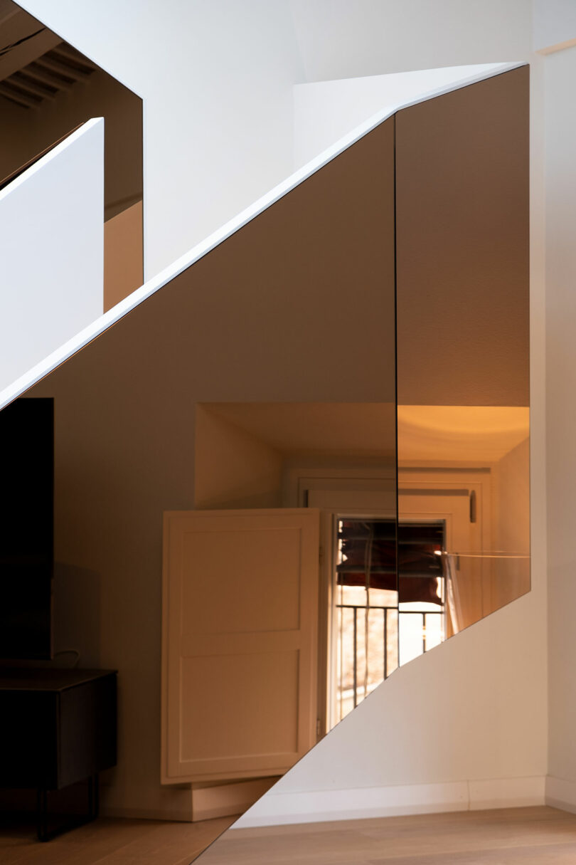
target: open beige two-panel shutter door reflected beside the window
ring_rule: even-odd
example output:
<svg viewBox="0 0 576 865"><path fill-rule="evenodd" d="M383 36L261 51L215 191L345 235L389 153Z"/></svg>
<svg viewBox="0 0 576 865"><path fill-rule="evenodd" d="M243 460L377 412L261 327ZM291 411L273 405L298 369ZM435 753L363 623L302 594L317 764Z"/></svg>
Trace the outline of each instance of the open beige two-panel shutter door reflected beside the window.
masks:
<svg viewBox="0 0 576 865"><path fill-rule="evenodd" d="M319 513L164 515L164 784L285 772L316 740Z"/></svg>

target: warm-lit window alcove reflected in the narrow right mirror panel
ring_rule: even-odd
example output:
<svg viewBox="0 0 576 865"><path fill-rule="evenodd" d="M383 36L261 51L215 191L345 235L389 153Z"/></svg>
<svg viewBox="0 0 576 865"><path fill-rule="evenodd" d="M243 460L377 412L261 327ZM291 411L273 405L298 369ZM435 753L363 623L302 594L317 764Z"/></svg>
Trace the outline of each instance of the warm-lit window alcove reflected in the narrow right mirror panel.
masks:
<svg viewBox="0 0 576 865"><path fill-rule="evenodd" d="M446 637L528 592L529 408L399 406L398 460L399 519L443 525Z"/></svg>

